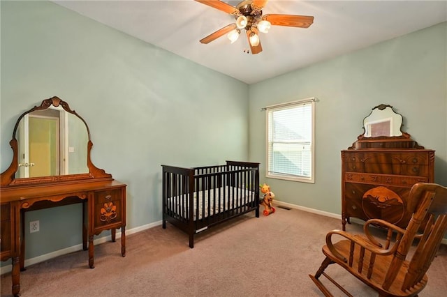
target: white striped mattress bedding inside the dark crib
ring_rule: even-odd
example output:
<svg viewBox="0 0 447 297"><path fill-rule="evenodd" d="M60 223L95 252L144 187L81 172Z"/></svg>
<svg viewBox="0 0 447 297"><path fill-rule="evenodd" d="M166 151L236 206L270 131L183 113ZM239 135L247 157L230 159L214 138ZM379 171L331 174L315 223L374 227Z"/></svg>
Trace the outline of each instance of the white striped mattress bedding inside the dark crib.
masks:
<svg viewBox="0 0 447 297"><path fill-rule="evenodd" d="M198 199L197 199L198 194ZM210 199L208 199L210 196ZM220 204L219 204L219 196L220 196ZM197 202L198 202L198 219L201 220L203 218L207 218L208 215L215 215L217 213L221 213L223 211L228 211L231 208L236 208L241 206L244 203L249 201L253 201L253 197L255 196L255 192L235 188L232 186L225 186L221 188L215 188L205 191L194 192L194 220L197 218ZM168 206L172 206L170 203L171 199L174 199L175 207L171 208L172 211L179 211L183 209L183 204L186 204L184 211L189 209L189 199L187 195L184 196L176 196L168 198ZM210 200L210 207L208 207L208 200ZM204 205L205 204L205 205ZM177 213L181 215L181 213Z"/></svg>

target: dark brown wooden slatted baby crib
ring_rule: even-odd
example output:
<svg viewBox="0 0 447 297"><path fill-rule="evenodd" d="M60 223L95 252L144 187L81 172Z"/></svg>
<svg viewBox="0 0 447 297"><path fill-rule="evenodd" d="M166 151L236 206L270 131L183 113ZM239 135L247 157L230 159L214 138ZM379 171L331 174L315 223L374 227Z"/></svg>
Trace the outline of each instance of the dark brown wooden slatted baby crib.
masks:
<svg viewBox="0 0 447 297"><path fill-rule="evenodd" d="M259 218L259 163L226 161L226 165L163 167L163 229L166 221L189 234L255 211Z"/></svg>

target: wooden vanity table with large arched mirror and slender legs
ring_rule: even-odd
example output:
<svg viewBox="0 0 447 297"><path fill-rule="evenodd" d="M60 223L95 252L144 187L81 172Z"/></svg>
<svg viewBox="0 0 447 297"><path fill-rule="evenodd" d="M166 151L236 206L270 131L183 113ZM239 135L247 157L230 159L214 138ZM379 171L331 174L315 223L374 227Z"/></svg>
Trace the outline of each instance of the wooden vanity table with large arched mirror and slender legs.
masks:
<svg viewBox="0 0 447 297"><path fill-rule="evenodd" d="M36 127L46 133L41 138L57 134L44 145L56 158L32 152L45 151L31 136ZM126 255L126 185L93 165L87 123L66 102L53 97L24 112L15 124L10 146L13 162L0 175L0 258L12 259L14 296L20 294L20 271L24 270L26 211L82 203L82 247L88 249L89 267L94 268L94 235L105 230L111 230L115 241L116 229L121 228L121 253Z"/></svg>

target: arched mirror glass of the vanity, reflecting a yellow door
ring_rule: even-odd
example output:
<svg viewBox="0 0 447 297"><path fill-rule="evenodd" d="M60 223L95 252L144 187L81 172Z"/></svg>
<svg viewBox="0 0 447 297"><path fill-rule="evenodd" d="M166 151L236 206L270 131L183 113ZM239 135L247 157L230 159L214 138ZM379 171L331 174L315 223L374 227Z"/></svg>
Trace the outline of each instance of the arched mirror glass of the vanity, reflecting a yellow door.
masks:
<svg viewBox="0 0 447 297"><path fill-rule="evenodd" d="M24 114L13 137L19 150L15 178L89 172L87 126L61 105Z"/></svg>

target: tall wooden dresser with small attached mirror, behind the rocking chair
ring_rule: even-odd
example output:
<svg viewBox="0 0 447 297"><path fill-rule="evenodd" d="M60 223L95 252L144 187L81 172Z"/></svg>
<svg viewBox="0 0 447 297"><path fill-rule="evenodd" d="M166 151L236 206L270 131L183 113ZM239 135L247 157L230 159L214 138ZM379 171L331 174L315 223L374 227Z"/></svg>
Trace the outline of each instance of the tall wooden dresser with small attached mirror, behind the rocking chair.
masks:
<svg viewBox="0 0 447 297"><path fill-rule="evenodd" d="M389 105L379 105L374 107L372 114L389 113L387 109L394 113ZM346 222L350 223L350 218L365 221L380 218L406 227L411 219L411 213L406 211L411 186L418 182L434 182L434 151L419 146L405 132L397 132L401 135L395 136L395 132L389 132L389 124L385 129L386 136L370 137L372 133L368 129L374 125L370 125L367 119L365 133L342 151L343 230ZM384 119L388 121L389 114ZM402 124L400 114L395 114L396 120ZM383 123L377 117L373 122ZM399 130L401 124L398 125Z"/></svg>

